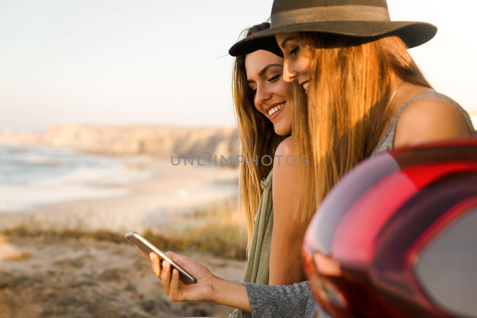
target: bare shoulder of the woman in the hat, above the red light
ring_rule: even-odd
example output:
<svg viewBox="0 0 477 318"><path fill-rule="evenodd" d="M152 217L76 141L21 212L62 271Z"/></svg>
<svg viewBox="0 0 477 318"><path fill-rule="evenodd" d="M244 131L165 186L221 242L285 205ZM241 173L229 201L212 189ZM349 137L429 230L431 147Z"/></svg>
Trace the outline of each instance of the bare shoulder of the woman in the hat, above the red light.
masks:
<svg viewBox="0 0 477 318"><path fill-rule="evenodd" d="M470 136L467 123L456 106L442 98L420 98L401 114L394 147Z"/></svg>

